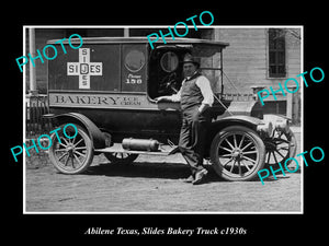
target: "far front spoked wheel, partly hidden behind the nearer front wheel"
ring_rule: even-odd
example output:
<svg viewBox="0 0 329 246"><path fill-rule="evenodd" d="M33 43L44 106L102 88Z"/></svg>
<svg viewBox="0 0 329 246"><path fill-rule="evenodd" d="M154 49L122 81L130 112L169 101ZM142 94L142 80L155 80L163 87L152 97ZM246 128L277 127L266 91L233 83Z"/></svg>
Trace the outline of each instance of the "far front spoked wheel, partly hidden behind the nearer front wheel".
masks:
<svg viewBox="0 0 329 246"><path fill-rule="evenodd" d="M294 132L290 129L287 132L274 130L271 138L264 140L266 156L265 165L282 165L290 157L294 157L297 149L297 140ZM291 163L290 160L286 165Z"/></svg>

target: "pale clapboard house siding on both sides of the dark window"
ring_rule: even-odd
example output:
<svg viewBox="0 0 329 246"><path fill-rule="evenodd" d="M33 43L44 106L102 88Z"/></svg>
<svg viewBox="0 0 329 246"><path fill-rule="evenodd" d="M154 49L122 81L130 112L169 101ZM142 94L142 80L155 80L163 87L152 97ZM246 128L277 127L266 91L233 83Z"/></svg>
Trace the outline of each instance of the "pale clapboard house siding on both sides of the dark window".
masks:
<svg viewBox="0 0 329 246"><path fill-rule="evenodd" d="M250 86L259 85L274 90L287 78L300 71L300 42L288 33L286 37L286 77L269 78L268 28L215 28L215 39L229 43L224 50L224 71L241 93L250 93ZM236 90L224 80L225 92ZM285 99L285 98L282 98Z"/></svg>

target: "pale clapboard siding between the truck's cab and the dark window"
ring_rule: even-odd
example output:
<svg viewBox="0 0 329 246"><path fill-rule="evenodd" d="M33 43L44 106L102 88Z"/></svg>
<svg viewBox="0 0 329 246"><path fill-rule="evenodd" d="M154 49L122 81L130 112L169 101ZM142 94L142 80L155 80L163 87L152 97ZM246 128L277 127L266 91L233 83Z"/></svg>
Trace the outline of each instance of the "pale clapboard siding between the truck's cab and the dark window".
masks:
<svg viewBox="0 0 329 246"><path fill-rule="evenodd" d="M223 54L224 72L241 93L249 93L250 86L263 83L266 74L264 30L217 28L215 39L229 43ZM224 83L226 93L236 92L227 80Z"/></svg>

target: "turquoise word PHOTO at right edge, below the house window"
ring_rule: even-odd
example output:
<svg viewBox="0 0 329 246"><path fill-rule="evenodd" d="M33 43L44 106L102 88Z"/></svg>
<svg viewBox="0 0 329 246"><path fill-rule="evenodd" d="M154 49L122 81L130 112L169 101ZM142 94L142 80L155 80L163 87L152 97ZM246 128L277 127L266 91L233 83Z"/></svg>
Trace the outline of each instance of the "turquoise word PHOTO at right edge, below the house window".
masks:
<svg viewBox="0 0 329 246"><path fill-rule="evenodd" d="M320 71L320 73L321 73L321 78L320 78L320 79L317 79L317 80L316 80L316 79L314 78L314 74L313 74L313 73L314 73L315 70ZM307 83L307 81L306 81L306 79L305 79L305 77L304 77L306 73L307 73L307 71L306 71L306 72L303 72L303 73L299 73L299 74L296 75L296 77L302 77L303 80L304 80L305 86L308 87L308 83ZM310 77L310 79L313 80L313 82L319 83L319 82L321 82L321 81L325 79L325 72L324 72L322 69L316 67L316 68L314 68L314 69L310 70L309 77ZM294 91L291 91L291 90L287 89L287 83L288 83L290 81L294 81L294 83L296 84L296 89L295 89ZM282 84L279 83L279 86L280 86L280 89L279 89L277 91L274 91L273 87L270 86L270 90L271 90L272 95L273 95L273 97L274 97L275 101L277 99L276 96L275 96L275 93L277 93L277 92L282 92L282 95L285 96L285 93L284 93L284 90L283 90L283 87L282 87ZM287 80L284 82L284 87L285 87L285 91L286 91L287 93L292 93L292 94L293 94L293 93L295 93L295 92L297 92L297 91L299 90L299 83L298 83L298 81L297 81L296 79L290 78L290 79L287 79ZM263 92L266 93L264 96L262 95ZM259 92L257 93L257 94L258 94L258 97L260 98L260 101L261 101L261 103L262 103L262 105L264 105L263 99L264 99L264 98L268 98L268 97L270 96L271 92L269 92L269 90L264 89L264 90L259 91Z"/></svg>

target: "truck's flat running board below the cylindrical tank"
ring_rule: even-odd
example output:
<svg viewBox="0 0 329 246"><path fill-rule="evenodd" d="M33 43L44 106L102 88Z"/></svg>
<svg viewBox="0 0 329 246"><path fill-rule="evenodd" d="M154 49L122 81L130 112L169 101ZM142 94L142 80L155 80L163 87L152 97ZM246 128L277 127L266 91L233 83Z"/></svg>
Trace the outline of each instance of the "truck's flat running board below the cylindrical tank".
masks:
<svg viewBox="0 0 329 246"><path fill-rule="evenodd" d="M177 145L160 145L159 151L133 151L123 149L121 143L114 143L112 147L104 149L95 149L95 153L129 153L129 154L147 154L147 155L170 155L179 152Z"/></svg>

